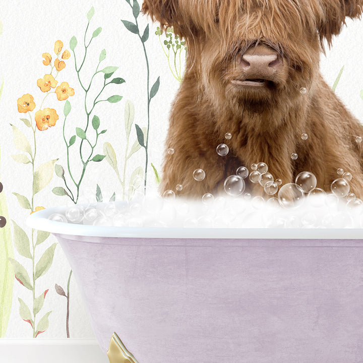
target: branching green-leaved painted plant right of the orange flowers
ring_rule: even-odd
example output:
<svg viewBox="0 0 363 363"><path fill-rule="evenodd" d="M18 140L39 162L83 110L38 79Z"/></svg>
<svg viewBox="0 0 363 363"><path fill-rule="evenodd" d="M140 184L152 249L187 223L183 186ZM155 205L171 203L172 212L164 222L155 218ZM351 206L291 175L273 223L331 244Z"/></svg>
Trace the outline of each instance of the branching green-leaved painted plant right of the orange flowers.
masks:
<svg viewBox="0 0 363 363"><path fill-rule="evenodd" d="M83 59L81 59L80 64L78 63L77 65L77 57L76 57L76 53L75 53L75 48L78 44L77 42L77 38L75 36L73 36L70 40L70 48L73 52L74 55L74 59L75 59L75 69L76 69L76 73L77 73L77 77L78 77L78 81L79 84L81 86L81 88L84 91L84 108L85 108L85 113L86 113L86 126L85 128L80 128L80 127L76 127L76 135L71 136L70 139L66 138L66 134L65 134L65 130L66 130L66 120L68 115L71 112L71 103L69 101L66 102L65 106L64 106L64 124L63 124L63 138L66 144L66 149L67 149L67 167L68 167L68 173L69 176L72 180L72 183L74 184L74 187L76 189L75 192L72 192L71 187L70 187L70 183L69 181L67 182L66 176L65 176L65 170L63 168L63 166L56 164L55 165L55 173L57 174L57 176L59 176L60 178L62 178L64 180L64 184L65 184L65 188L63 187L55 187L52 192L55 195L58 196L68 196L75 204L78 202L79 199L79 195L80 195L80 187L81 187L81 183L82 180L84 178L87 166L90 162L99 162L102 161L105 158L105 155L101 155L101 154L94 154L95 148L97 146L97 142L98 142L98 138L101 134L104 134L107 130L102 130L99 131L99 127L100 127L100 118L97 115L93 115L93 111L95 106L100 103L100 102L109 102L109 103L116 103L119 102L123 97L119 96L119 95L113 95L108 97L107 99L99 99L101 93L103 92L103 90L110 84L122 84L125 82L124 79L122 78L112 78L111 81L107 81L111 78L111 76L114 74L114 72L118 69L118 67L105 67L101 70L99 70L99 66L101 64L102 61L104 61L104 59L106 58L106 50L103 49L99 55L99 60L98 60L98 65L96 67L96 71L95 73L90 77L90 80L88 82L85 81L85 79L81 79L81 71L83 69L83 66L85 64L86 61L86 57L87 57L87 50L92 42L92 40L94 38L96 38L102 31L102 28L99 27L96 30L93 31L92 35L90 36L90 39L88 41L86 41L87 38L87 31L90 25L90 21L92 19L94 15L94 8L92 7L90 9L90 11L87 13L87 27L86 27L86 31L84 33L84 37L83 37L83 45L84 45L84 53L83 53ZM82 58L82 56L81 56ZM90 102L90 100L87 98L87 96L89 95L91 86L93 84L93 80L95 78L96 75L98 74L102 74L103 75L103 86L101 88L101 90L98 92L97 96ZM94 91L94 90L93 90ZM97 92L96 92L97 93ZM91 103L91 106L89 106L89 103ZM88 105L87 105L88 104ZM89 129L90 129L90 124L92 125L93 128L93 132L95 134L94 137L94 141L89 139ZM87 134L88 132L88 134ZM78 137L78 139L77 139ZM79 159L80 159L80 163L82 165L82 171L81 171L81 175L79 176L79 178L76 178L74 171L71 170L71 166L70 166L70 161L71 161L71 149L75 150L76 149L76 142L78 141L79 147Z"/></svg>

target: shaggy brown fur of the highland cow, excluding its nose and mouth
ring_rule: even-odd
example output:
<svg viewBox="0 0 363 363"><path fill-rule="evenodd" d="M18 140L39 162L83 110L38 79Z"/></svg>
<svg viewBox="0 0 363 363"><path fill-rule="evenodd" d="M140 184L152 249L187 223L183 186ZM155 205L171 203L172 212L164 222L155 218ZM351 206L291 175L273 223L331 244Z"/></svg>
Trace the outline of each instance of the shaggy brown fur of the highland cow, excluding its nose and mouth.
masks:
<svg viewBox="0 0 363 363"><path fill-rule="evenodd" d="M363 197L363 143L355 142L363 128L319 72L324 38L330 46L362 7L363 0L145 0L143 12L188 45L167 136L175 152L166 153L161 192L181 184L177 195L218 193L239 166L263 161L283 184L311 171L326 191L343 168L353 175L350 191ZM274 49L282 60L264 87L231 84L244 80L239 65L249 49ZM229 147L225 157L216 153L220 143ZM206 172L203 181L193 179L197 168ZM260 185L248 187L263 194Z"/></svg>

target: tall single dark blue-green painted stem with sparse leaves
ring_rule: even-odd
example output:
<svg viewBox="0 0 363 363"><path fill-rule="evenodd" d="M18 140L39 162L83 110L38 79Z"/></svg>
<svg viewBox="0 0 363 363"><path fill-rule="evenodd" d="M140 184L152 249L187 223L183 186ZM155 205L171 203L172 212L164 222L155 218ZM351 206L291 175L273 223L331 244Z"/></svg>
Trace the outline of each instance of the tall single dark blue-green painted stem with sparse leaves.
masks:
<svg viewBox="0 0 363 363"><path fill-rule="evenodd" d="M131 4L131 0L125 0L131 7L132 13L135 19L135 23L130 22L128 20L121 20L125 25L126 29L131 33L136 34L143 46L144 56L146 61L146 69L147 69L147 127L146 127L146 137L142 128L135 124L137 139L141 147L145 149L145 171L144 171L144 194L146 194L146 183L147 183L147 168L148 168L148 144L149 144L149 131L150 131L150 101L153 97L155 97L156 93L159 90L160 86L160 76L157 78L155 83L152 85L150 89L150 69L149 69L149 59L146 52L145 43L149 39L149 24L145 27L144 31L140 32L140 27L138 23L138 17L140 15L140 5L137 0L133 0Z"/></svg>

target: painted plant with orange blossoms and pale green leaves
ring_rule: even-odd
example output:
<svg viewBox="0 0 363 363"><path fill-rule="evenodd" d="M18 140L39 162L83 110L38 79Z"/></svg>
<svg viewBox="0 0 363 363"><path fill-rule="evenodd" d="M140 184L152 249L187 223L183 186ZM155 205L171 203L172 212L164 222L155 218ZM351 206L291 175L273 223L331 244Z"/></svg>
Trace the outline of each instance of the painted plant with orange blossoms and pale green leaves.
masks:
<svg viewBox="0 0 363 363"><path fill-rule="evenodd" d="M53 62L50 53L42 54L42 57L44 58L43 65L50 67L50 70L43 78L37 80L36 84L38 88L45 95L35 114L32 115L32 111L34 111L36 104L34 97L31 94L26 93L17 101L18 111L20 113L25 113L28 116L20 119L27 128L31 129L31 141L27 139L26 135L18 127L11 124L13 128L14 145L22 152L21 154L12 155L12 158L16 162L31 165L32 180L32 193L30 198L16 192L13 192L13 194L16 196L19 205L26 210L30 210L31 213L44 209L44 207L36 207L34 198L35 196L38 196L38 193L49 184L53 176L54 164L58 160L53 159L45 161L36 167L39 156L37 153L36 136L39 132L46 132L49 128L55 126L59 118L55 109L47 107L42 108L43 103L51 94L55 94L57 100L61 102L66 100L69 96L74 95L73 88L71 88L67 82L62 82L57 86L58 81L56 78L66 67L66 59L70 58L70 52L67 49L62 52L62 49L63 42L61 40L57 40L54 44L54 53L56 58ZM31 146L31 144L33 146ZM36 338L40 333L43 333L48 328L48 317L51 313L51 311L49 311L44 314L36 324L36 317L43 307L45 296L49 290L46 289L40 295L36 296L36 281L41 276L44 276L51 267L54 250L57 244L53 243L50 247L48 247L36 262L37 247L44 243L49 236L49 232L38 230L35 237L35 229L32 229L29 238L25 230L16 221L13 220L12 222L14 227L14 246L19 255L30 260L32 264L32 269L29 274L23 264L13 258L9 258L9 261L12 263L14 268L16 280L19 281L19 283L25 288L32 291L33 295L32 310L26 305L23 299L20 297L18 298L20 304L19 313L20 317L31 325L33 337Z"/></svg>

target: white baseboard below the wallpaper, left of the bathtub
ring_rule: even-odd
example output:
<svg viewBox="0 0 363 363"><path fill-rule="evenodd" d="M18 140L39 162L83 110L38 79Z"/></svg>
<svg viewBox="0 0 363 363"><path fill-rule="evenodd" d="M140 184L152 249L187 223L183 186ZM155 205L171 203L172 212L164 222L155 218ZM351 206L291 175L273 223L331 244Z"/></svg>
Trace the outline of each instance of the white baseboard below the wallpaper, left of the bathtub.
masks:
<svg viewBox="0 0 363 363"><path fill-rule="evenodd" d="M95 339L0 339L1 363L109 363Z"/></svg>

